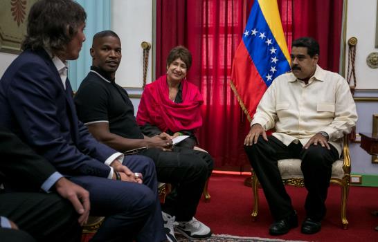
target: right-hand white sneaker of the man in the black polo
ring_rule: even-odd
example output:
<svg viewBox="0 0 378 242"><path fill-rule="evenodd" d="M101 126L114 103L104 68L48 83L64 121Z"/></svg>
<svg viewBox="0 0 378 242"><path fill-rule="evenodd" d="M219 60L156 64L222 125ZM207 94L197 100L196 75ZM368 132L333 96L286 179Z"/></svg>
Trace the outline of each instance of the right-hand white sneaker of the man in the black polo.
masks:
<svg viewBox="0 0 378 242"><path fill-rule="evenodd" d="M179 222L176 231L188 239L203 239L211 236L210 227L199 222L195 217L188 222Z"/></svg>

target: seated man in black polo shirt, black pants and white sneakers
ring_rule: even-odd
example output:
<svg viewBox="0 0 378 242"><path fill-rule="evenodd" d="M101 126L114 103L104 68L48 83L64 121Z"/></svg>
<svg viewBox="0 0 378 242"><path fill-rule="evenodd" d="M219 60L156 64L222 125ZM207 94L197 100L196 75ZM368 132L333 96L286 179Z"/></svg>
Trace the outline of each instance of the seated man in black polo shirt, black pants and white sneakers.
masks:
<svg viewBox="0 0 378 242"><path fill-rule="evenodd" d="M163 136L143 136L127 92L115 83L121 56L115 32L94 35L91 71L75 95L78 117L109 147L122 152L136 149L138 154L152 158L158 180L174 186L174 193L162 206L168 241L176 241L174 230L190 239L206 238L211 235L210 228L194 216L213 170L213 159L206 152L173 147L172 140Z"/></svg>

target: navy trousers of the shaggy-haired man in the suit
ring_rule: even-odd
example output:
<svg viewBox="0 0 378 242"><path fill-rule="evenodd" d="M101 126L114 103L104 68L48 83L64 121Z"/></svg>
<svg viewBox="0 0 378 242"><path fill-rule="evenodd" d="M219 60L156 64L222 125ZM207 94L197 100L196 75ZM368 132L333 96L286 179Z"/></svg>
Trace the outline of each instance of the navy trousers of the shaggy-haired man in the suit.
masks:
<svg viewBox="0 0 378 242"><path fill-rule="evenodd" d="M143 174L143 184L95 176L70 178L89 191L91 215L105 216L91 241L165 240L154 162L145 156L125 156L123 165Z"/></svg>

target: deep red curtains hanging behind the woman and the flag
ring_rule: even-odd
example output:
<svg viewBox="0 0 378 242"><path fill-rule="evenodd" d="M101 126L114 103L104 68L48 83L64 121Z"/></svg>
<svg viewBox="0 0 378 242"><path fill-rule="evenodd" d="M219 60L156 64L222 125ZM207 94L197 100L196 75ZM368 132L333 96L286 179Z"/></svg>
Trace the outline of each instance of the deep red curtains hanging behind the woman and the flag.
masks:
<svg viewBox="0 0 378 242"><path fill-rule="evenodd" d="M190 50L193 64L188 80L204 95L199 142L215 158L217 169L240 170L249 164L242 145L249 122L229 81L252 4L247 0L156 1L156 77L166 72L171 48L181 44ZM288 46L300 36L318 39L321 53L326 53L321 54L321 66L337 71L342 0L278 0L278 6Z"/></svg>

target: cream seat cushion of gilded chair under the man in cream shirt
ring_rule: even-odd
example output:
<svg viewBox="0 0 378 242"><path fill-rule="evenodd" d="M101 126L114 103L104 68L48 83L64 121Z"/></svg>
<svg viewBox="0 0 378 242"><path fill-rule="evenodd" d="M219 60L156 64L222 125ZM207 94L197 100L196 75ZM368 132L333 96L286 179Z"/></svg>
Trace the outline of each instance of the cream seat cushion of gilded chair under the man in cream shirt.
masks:
<svg viewBox="0 0 378 242"><path fill-rule="evenodd" d="M299 159L278 160L278 169L280 169L282 179L303 178L302 171L300 170L301 162L302 160ZM332 178L343 178L343 160L336 160L333 163L331 176Z"/></svg>

